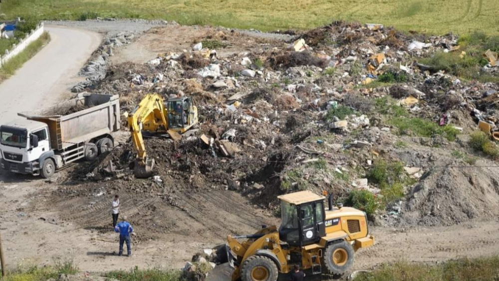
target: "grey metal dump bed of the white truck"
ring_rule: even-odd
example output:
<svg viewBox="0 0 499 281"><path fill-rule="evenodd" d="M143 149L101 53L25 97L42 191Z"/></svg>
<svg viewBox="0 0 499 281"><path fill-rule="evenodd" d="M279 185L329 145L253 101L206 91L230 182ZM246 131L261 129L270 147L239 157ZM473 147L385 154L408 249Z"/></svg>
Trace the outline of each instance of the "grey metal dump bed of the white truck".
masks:
<svg viewBox="0 0 499 281"><path fill-rule="evenodd" d="M48 125L52 149L64 149L120 129L118 95L80 93L53 107L17 115Z"/></svg>

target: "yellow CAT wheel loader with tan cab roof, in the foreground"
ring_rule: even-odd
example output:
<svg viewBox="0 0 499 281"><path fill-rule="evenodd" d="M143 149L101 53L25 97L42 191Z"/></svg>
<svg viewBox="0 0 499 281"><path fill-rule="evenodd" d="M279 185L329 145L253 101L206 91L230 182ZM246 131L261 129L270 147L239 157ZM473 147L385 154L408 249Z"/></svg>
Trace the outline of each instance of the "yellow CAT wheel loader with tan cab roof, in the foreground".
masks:
<svg viewBox="0 0 499 281"><path fill-rule="evenodd" d="M263 226L253 235L227 237L218 247L217 263L207 281L276 281L294 265L343 275L353 265L354 253L374 244L368 234L367 216L354 208L333 206L325 210L325 196L301 191L277 197L281 225ZM246 239L243 242L238 239Z"/></svg>

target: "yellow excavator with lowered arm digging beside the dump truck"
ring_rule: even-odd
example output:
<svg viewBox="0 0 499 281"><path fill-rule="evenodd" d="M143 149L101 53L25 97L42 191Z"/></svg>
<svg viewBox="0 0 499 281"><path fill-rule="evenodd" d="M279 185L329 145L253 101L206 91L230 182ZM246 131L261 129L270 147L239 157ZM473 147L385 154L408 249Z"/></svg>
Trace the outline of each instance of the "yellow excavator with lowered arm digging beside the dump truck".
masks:
<svg viewBox="0 0 499 281"><path fill-rule="evenodd" d="M185 133L198 123L198 108L190 97L175 97L164 101L159 94L147 94L128 114L128 127L137 151L134 175L147 178L152 174L154 158L148 157L142 131L150 133Z"/></svg>

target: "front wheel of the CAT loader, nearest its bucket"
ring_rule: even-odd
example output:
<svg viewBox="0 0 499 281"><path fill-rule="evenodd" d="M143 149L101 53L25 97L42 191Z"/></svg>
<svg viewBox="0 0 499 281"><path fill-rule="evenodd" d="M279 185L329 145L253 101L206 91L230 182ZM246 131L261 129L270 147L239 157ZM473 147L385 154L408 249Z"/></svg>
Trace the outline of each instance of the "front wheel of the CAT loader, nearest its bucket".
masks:
<svg viewBox="0 0 499 281"><path fill-rule="evenodd" d="M279 275L275 263L266 257L251 256L243 263L242 281L276 281Z"/></svg>

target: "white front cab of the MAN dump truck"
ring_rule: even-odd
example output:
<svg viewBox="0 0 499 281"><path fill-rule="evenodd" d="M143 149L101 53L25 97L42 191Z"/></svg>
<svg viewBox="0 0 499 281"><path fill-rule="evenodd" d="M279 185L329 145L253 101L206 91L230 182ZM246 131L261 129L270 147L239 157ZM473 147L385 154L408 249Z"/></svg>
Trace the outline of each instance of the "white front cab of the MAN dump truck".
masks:
<svg viewBox="0 0 499 281"><path fill-rule="evenodd" d="M1 168L19 174L40 175L40 165L53 157L48 126L45 123L19 119L0 126ZM47 167L53 174L53 161Z"/></svg>

